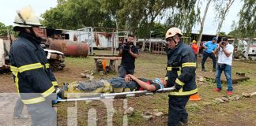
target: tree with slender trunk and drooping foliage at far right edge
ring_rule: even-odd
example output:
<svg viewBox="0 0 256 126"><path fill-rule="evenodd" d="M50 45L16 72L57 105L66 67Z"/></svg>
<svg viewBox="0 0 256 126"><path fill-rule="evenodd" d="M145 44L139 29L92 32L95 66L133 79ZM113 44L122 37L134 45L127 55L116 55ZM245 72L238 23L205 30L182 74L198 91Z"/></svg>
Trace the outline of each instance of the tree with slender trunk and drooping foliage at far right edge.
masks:
<svg viewBox="0 0 256 126"><path fill-rule="evenodd" d="M249 42L245 57L248 58L250 44L253 41L254 33L256 31L256 0L244 0L243 7L239 12L239 31L243 33L242 37L248 37Z"/></svg>

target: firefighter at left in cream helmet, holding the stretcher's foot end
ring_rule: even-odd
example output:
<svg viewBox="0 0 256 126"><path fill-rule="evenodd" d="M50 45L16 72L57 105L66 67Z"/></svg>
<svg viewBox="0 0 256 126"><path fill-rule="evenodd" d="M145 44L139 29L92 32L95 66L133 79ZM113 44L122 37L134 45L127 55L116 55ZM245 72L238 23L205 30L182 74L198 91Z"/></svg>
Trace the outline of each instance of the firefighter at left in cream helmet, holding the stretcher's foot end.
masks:
<svg viewBox="0 0 256 126"><path fill-rule="evenodd" d="M40 20L31 6L25 6L17 10L14 24L13 31L19 34L9 51L9 61L18 95L27 106L32 125L56 125L52 101L57 98L58 83L40 46Z"/></svg>

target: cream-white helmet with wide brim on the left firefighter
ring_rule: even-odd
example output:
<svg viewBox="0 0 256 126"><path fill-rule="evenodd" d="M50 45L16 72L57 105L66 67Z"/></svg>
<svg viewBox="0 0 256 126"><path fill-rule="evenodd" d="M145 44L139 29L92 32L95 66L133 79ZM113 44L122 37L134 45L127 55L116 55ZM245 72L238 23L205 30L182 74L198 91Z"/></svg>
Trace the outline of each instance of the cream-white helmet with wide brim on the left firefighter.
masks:
<svg viewBox="0 0 256 126"><path fill-rule="evenodd" d="M13 30L17 31L19 27L30 28L32 26L41 26L39 17L36 16L31 6L25 6L17 10L17 16L14 19Z"/></svg>

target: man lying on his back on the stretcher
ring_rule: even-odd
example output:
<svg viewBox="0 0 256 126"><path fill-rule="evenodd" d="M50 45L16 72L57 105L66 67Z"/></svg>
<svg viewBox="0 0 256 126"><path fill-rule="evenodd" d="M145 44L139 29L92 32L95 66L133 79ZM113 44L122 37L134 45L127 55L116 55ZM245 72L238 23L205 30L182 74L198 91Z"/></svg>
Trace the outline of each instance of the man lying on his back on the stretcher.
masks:
<svg viewBox="0 0 256 126"><path fill-rule="evenodd" d="M66 83L62 87L64 95L62 98L80 98L82 96L95 96L101 93L120 93L129 91L157 91L166 87L165 81L161 78L148 80L137 78L134 75L126 75L125 78L114 77L110 80L91 80L89 82ZM83 93L83 95L68 96L68 94Z"/></svg>

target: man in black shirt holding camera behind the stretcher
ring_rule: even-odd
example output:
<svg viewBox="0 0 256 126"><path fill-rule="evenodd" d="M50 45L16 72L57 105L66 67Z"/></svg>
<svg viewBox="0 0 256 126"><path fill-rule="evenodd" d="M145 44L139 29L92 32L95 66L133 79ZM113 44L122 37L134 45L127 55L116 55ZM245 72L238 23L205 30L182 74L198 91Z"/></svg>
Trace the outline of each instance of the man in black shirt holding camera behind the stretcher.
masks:
<svg viewBox="0 0 256 126"><path fill-rule="evenodd" d="M119 76L124 78L126 74L134 74L135 58L138 57L137 47L134 46L134 35L128 35L126 42L122 44L119 50L119 56L122 56L119 68Z"/></svg>

